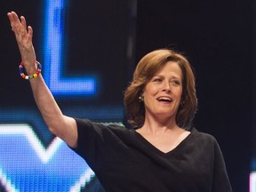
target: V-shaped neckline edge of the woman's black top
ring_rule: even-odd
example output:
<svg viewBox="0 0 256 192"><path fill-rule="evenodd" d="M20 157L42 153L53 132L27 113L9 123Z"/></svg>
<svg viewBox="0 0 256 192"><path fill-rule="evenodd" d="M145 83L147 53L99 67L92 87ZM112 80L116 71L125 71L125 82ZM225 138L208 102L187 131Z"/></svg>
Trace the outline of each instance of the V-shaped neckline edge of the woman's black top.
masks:
<svg viewBox="0 0 256 192"><path fill-rule="evenodd" d="M136 137L143 142L143 144L147 147L150 148L151 150L155 151L158 155L160 156L169 156L173 153L175 153L175 151L179 150L180 148L182 148L187 142L188 140L190 140L190 138L193 136L194 134L194 128L192 128L190 130L190 133L188 134L188 136L186 138L184 138L184 140L181 140L180 143L175 147L172 148L170 151L164 152L162 150L160 150L159 148L156 148L156 146L154 146L151 142L149 142L146 138L144 138L140 132L136 132L136 130L133 130L134 134L136 135Z"/></svg>

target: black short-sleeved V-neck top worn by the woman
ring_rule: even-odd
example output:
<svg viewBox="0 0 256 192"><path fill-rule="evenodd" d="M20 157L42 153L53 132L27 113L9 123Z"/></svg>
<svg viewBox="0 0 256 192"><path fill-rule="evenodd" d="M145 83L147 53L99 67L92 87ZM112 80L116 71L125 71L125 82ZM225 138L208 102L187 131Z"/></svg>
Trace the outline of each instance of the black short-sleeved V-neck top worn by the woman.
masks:
<svg viewBox="0 0 256 192"><path fill-rule="evenodd" d="M217 141L191 130L168 153L118 124L76 119L77 148L108 192L230 192Z"/></svg>

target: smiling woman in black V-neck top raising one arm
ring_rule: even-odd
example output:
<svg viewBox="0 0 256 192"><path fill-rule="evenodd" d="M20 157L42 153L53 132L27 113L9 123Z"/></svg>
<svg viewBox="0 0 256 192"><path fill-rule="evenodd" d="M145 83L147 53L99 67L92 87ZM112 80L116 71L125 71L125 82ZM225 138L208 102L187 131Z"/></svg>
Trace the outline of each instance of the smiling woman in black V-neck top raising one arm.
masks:
<svg viewBox="0 0 256 192"><path fill-rule="evenodd" d="M195 78L185 57L163 49L140 60L124 92L134 129L97 124L61 113L40 75L32 28L15 12L8 17L45 123L84 158L106 191L232 191L217 141L192 127Z"/></svg>

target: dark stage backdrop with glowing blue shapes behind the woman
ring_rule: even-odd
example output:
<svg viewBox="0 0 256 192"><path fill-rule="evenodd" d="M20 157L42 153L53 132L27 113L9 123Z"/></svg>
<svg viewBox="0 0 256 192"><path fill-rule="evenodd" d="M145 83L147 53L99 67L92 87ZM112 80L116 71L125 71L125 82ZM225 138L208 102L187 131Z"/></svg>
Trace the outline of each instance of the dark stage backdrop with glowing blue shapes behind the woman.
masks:
<svg viewBox="0 0 256 192"><path fill-rule="evenodd" d="M123 92L140 58L169 47L196 71L195 126L220 143L234 192L256 192L255 4L245 0L2 0L0 191L104 191L47 129L7 12L34 28L37 60L63 113L125 123Z"/></svg>

